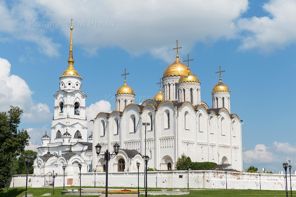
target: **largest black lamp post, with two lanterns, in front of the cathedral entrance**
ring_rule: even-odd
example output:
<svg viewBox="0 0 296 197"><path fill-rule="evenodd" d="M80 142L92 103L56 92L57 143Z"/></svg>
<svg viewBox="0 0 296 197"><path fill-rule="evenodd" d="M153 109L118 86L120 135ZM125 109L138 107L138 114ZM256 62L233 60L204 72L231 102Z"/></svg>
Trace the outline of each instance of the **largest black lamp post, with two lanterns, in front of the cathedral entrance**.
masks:
<svg viewBox="0 0 296 197"><path fill-rule="evenodd" d="M104 161L106 161L106 197L107 197L108 196L108 161L110 161L110 159L112 159L114 156L117 156L119 152L119 144L115 143L113 145L113 149L114 149L113 153L115 154L113 153L110 154L108 149L106 150L106 152L104 152L104 154L100 154L102 149L102 146L100 144L97 144L95 148L96 148L96 154L97 154L96 157L100 157L104 159Z"/></svg>

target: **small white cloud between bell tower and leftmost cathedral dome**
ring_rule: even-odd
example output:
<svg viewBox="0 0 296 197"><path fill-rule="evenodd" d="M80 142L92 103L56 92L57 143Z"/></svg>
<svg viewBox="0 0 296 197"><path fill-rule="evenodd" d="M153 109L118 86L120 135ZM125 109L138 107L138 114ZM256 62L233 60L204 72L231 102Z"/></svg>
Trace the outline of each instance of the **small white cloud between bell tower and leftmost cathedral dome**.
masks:
<svg viewBox="0 0 296 197"><path fill-rule="evenodd" d="M112 112L110 102L105 100L100 100L96 103L92 103L91 105L89 105L89 107L86 108L87 120L90 121L96 118L96 115L99 112L106 112L106 113ZM91 133L92 125L89 122L87 123L87 127L88 127L89 133Z"/></svg>

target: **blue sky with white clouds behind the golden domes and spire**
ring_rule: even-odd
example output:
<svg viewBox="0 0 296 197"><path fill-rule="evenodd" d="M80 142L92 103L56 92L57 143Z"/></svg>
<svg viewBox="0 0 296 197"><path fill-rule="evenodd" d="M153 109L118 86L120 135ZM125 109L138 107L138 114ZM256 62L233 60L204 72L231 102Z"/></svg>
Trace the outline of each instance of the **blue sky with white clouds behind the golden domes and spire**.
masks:
<svg viewBox="0 0 296 197"><path fill-rule="evenodd" d="M29 128L30 147L37 147L44 130L50 130L53 95L59 89L59 75L68 65L70 30L69 26L29 27L29 20L109 20L114 27L73 30L74 66L83 79L86 106L96 104L89 114L115 108L115 102L110 100L111 109L97 102L114 96L123 84L124 68L130 73L127 84L136 96L153 97L164 69L175 60L171 49L178 39L182 46L180 59L186 59L187 53L194 59L190 67L200 79L202 101L211 105L211 90L219 78L215 71L219 66L226 70L222 81L231 91L231 113L245 121L244 168L255 165L278 172L288 159L295 166L292 117L296 94L292 87L296 85L296 22L291 13L296 11L296 2L219 3L199 5L187 1L185 5L170 5L172 12L178 11L174 16L165 4L157 3L145 7L133 2L133 6L119 11L118 5L106 3L94 8L73 1L66 9L68 2L1 1L0 16L4 21L0 22L0 58L10 63L11 69L10 74L2 74L2 81L7 80L0 82L21 95L10 95L13 91L9 88L0 90L0 110L7 110L8 105L21 106L26 113L21 128ZM186 12L183 8L188 5ZM143 13L135 11L141 9ZM6 61L0 64L1 69L7 69ZM11 75L19 78L8 79Z"/></svg>

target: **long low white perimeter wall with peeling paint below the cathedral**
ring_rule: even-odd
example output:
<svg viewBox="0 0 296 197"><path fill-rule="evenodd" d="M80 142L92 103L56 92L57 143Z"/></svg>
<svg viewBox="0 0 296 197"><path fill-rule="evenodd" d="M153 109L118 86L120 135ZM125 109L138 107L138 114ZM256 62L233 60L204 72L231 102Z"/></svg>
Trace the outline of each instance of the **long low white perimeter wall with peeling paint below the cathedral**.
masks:
<svg viewBox="0 0 296 197"><path fill-rule="evenodd" d="M183 177L182 177L183 176ZM288 176L288 190L290 188L290 177ZM179 178L182 177L182 178ZM77 175L65 174L65 186L67 178L73 179L74 186L79 186ZM296 175L291 175L292 188L296 187ZM148 187L157 188L187 188L187 171L157 171L148 172ZM14 186L25 187L26 175L15 175ZM108 176L108 185L113 187L137 187L137 172L112 172ZM260 189L259 175L257 173L228 172L228 189ZM44 185L44 175L28 175L28 186L42 187ZM13 186L11 180L10 187ZM63 174L59 174L55 179L55 187L63 186ZM68 185L70 186L70 185ZM81 173L81 186L94 186L94 173ZM96 173L96 186L105 186L105 173ZM140 187L144 186L144 175L140 172ZM189 171L189 188L226 188L226 177L224 171ZM262 190L285 190L284 175L262 174Z"/></svg>

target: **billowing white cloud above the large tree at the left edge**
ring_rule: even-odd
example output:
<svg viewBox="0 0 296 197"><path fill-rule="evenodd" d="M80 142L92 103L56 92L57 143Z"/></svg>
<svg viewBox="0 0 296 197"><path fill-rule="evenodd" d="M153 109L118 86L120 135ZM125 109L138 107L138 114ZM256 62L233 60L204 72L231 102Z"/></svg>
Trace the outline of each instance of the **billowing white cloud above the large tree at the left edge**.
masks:
<svg viewBox="0 0 296 197"><path fill-rule="evenodd" d="M10 74L11 65L0 58L0 111L9 110L9 105L19 106L24 110L22 121L40 122L50 120L52 113L45 103L34 105L28 84L17 75Z"/></svg>

